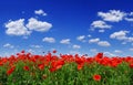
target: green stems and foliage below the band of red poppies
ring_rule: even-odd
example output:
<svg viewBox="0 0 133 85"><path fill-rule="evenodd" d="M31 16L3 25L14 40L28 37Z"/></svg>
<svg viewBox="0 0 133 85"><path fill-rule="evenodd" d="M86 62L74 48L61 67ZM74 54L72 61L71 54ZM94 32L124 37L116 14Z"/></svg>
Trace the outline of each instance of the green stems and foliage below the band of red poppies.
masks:
<svg viewBox="0 0 133 85"><path fill-rule="evenodd" d="M29 65L29 63L27 63ZM43 71L33 68L24 71L25 64L18 62L16 71L7 75L7 68L0 66L0 84L2 85L132 85L133 70L126 63L117 67L103 66L96 63L85 64L82 70L76 68L76 63L68 63L62 68L50 72L49 66ZM94 74L102 76L101 81L93 79Z"/></svg>

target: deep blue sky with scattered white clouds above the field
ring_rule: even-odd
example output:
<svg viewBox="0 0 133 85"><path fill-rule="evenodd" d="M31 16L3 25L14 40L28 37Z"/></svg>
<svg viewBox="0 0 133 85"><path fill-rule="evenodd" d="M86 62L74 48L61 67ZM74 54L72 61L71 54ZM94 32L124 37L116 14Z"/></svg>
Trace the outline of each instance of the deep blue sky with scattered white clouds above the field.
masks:
<svg viewBox="0 0 133 85"><path fill-rule="evenodd" d="M132 8L132 0L1 0L0 55L133 55Z"/></svg>

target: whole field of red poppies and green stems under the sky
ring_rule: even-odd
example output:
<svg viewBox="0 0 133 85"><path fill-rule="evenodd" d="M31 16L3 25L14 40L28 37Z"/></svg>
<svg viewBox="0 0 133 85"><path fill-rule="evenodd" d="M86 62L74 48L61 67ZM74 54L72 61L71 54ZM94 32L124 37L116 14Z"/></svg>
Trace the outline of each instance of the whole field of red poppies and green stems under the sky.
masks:
<svg viewBox="0 0 133 85"><path fill-rule="evenodd" d="M133 85L133 57L21 51L0 57L0 85Z"/></svg>

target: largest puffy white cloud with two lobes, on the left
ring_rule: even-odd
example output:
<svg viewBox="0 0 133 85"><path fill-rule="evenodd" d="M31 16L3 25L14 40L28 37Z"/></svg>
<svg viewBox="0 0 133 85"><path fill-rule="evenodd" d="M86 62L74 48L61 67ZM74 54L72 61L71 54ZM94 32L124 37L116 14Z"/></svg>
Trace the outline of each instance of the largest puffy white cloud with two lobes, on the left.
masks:
<svg viewBox="0 0 133 85"><path fill-rule="evenodd" d="M24 19L9 21L4 24L8 35L30 35L32 31L47 32L52 28L51 23L39 21L35 18L30 18L28 23L24 24Z"/></svg>

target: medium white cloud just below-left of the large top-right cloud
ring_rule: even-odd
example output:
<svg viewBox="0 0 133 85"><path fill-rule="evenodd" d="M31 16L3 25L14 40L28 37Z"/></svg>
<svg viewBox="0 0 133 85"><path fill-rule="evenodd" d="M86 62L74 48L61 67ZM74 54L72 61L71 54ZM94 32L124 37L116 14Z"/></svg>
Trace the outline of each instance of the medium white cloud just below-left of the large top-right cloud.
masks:
<svg viewBox="0 0 133 85"><path fill-rule="evenodd" d="M95 28L98 28L98 29L111 29L111 26L112 25L109 25L109 24L106 24L104 21L102 21L102 20L98 20L98 21L93 21L92 23L91 23L91 26L93 28L93 29L95 29Z"/></svg>

